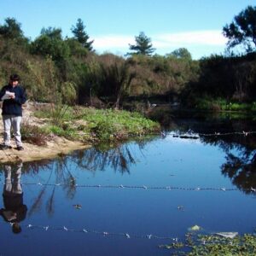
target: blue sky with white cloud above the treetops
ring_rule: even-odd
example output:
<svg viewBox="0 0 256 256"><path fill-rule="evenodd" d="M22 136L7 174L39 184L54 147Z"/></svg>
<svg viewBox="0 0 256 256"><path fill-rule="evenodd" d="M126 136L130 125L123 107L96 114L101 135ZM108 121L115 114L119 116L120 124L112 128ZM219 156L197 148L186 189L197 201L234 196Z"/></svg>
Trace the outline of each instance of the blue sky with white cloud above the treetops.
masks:
<svg viewBox="0 0 256 256"><path fill-rule="evenodd" d="M31 40L49 26L65 38L80 18L98 54L125 55L144 32L156 54L186 48L196 60L224 53L223 27L248 5L256 0L0 0L0 25L11 17Z"/></svg>

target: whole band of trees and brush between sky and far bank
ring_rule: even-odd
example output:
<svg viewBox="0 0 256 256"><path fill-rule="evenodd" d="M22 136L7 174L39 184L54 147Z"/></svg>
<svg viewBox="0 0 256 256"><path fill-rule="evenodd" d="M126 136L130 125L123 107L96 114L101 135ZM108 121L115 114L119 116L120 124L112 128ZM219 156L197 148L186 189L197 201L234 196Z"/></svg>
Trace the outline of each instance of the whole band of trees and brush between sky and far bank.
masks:
<svg viewBox="0 0 256 256"><path fill-rule="evenodd" d="M246 10L253 12L256 20L256 8ZM236 17L248 15L246 10ZM7 18L0 25L0 83L5 84L10 73L19 73L28 96L34 101L60 99L68 104L96 104L97 99L116 108L128 98L153 96L166 102L183 102L189 107L195 107L201 98L253 102L256 33L245 38L240 33L237 36L240 41L234 41L236 35L232 29L239 26L236 17L230 26L224 26L224 36L230 38L229 48L246 44L245 53L211 55L199 61L192 60L184 48L153 55L151 40L143 32L136 37L137 44L130 45L135 52L125 57L110 53L98 55L80 19L72 26L72 38L63 38L61 28L49 27L29 40L20 23ZM252 22L256 31L256 22Z"/></svg>

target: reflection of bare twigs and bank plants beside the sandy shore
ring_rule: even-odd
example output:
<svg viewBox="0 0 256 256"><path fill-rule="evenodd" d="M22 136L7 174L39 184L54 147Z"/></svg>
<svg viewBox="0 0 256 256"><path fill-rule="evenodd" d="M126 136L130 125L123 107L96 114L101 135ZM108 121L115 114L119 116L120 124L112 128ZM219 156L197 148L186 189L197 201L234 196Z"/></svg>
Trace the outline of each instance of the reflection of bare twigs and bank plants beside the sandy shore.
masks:
<svg viewBox="0 0 256 256"><path fill-rule="evenodd" d="M84 169L89 172L104 171L110 167L114 172L130 173L131 165L136 163L135 151L136 147L143 154L143 147L149 140L137 141L136 143L119 144L114 147L107 145L86 150L78 150L68 156L59 156L55 160L40 160L24 163L23 173L27 173L31 178L38 180L39 173L48 172L44 183L40 183L41 187L38 194L32 200L32 206L27 212L28 216L39 212L45 207L49 216L55 211L55 192L57 189L63 189L68 199L73 199L76 193L76 177L73 170L76 168ZM3 171L3 168L0 168ZM61 186L56 186L61 184Z"/></svg>

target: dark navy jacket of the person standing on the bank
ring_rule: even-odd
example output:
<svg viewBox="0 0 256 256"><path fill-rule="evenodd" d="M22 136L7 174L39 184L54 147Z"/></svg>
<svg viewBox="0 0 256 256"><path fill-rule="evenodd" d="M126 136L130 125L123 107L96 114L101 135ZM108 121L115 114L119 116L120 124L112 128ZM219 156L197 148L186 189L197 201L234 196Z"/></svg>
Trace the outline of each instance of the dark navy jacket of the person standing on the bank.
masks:
<svg viewBox="0 0 256 256"><path fill-rule="evenodd" d="M9 90L9 92L15 93L15 99L3 101L2 114L13 114L15 116L22 116L21 105L26 102L26 92L24 88L21 87L20 84L17 84L15 87L13 87L11 84L5 85L0 91L0 99L2 99L7 90Z"/></svg>

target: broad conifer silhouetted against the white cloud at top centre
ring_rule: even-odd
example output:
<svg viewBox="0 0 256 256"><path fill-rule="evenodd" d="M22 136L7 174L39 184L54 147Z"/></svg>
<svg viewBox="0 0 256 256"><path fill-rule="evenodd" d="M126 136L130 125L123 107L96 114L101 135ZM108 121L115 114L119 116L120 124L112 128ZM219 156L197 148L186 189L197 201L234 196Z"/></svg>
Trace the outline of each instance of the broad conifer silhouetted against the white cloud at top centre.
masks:
<svg viewBox="0 0 256 256"><path fill-rule="evenodd" d="M135 50L134 53L128 53L128 55L151 55L154 52L153 45L151 44L151 38L148 38L144 32L135 37L136 44L129 44L131 50Z"/></svg>

